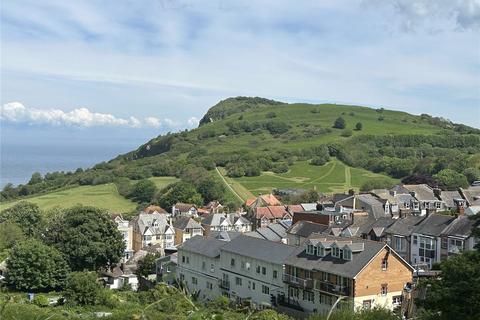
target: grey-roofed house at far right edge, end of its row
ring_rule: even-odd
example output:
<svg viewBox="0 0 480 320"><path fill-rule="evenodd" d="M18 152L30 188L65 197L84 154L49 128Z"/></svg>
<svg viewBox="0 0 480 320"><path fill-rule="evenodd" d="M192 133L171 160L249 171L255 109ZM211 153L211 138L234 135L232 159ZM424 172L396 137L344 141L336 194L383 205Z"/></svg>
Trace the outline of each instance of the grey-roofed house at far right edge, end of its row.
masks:
<svg viewBox="0 0 480 320"><path fill-rule="evenodd" d="M453 220L441 233L441 259L448 259L463 251L473 250L478 239L472 236L472 231L479 228L480 221L461 215Z"/></svg>

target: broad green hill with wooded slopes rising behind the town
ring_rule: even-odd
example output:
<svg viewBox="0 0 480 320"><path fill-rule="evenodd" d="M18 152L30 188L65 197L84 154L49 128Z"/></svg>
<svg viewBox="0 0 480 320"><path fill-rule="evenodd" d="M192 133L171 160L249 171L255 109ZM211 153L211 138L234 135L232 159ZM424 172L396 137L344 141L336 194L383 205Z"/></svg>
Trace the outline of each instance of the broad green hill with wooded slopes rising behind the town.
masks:
<svg viewBox="0 0 480 320"><path fill-rule="evenodd" d="M335 128L339 118L343 120ZM160 135L89 170L51 174L36 184L4 190L2 197L119 177L180 177L191 167L205 168L230 185L230 200L273 188L333 192L405 178L438 183L434 177L445 169L464 184L480 167L479 132L442 118L384 108L228 98L211 107L196 129ZM329 172L332 166L336 169Z"/></svg>

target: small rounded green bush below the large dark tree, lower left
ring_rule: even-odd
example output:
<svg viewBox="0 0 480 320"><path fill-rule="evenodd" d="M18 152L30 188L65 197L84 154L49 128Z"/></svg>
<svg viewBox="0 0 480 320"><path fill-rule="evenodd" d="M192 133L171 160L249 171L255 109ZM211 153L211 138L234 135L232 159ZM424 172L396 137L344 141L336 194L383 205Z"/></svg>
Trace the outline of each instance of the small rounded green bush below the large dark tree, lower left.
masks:
<svg viewBox="0 0 480 320"><path fill-rule="evenodd" d="M70 305L94 305L101 291L94 272L72 272L65 281L64 295Z"/></svg>

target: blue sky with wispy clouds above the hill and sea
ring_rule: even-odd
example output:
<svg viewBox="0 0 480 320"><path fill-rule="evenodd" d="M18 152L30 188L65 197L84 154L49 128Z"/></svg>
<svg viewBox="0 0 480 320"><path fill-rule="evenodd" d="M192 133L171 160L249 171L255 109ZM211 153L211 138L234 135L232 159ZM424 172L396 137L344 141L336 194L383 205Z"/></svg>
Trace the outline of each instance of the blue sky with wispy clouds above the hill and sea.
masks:
<svg viewBox="0 0 480 320"><path fill-rule="evenodd" d="M480 127L480 1L4 1L2 122L196 126L230 96Z"/></svg>

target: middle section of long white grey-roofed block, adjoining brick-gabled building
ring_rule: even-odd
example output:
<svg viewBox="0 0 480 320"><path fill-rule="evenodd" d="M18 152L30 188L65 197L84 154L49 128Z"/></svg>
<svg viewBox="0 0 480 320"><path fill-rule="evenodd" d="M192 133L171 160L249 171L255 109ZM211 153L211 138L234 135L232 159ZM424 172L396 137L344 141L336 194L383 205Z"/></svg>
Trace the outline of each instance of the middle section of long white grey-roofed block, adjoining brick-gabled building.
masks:
<svg viewBox="0 0 480 320"><path fill-rule="evenodd" d="M285 259L295 247L240 235L221 249L221 290L231 300L252 308L276 306L283 292Z"/></svg>

